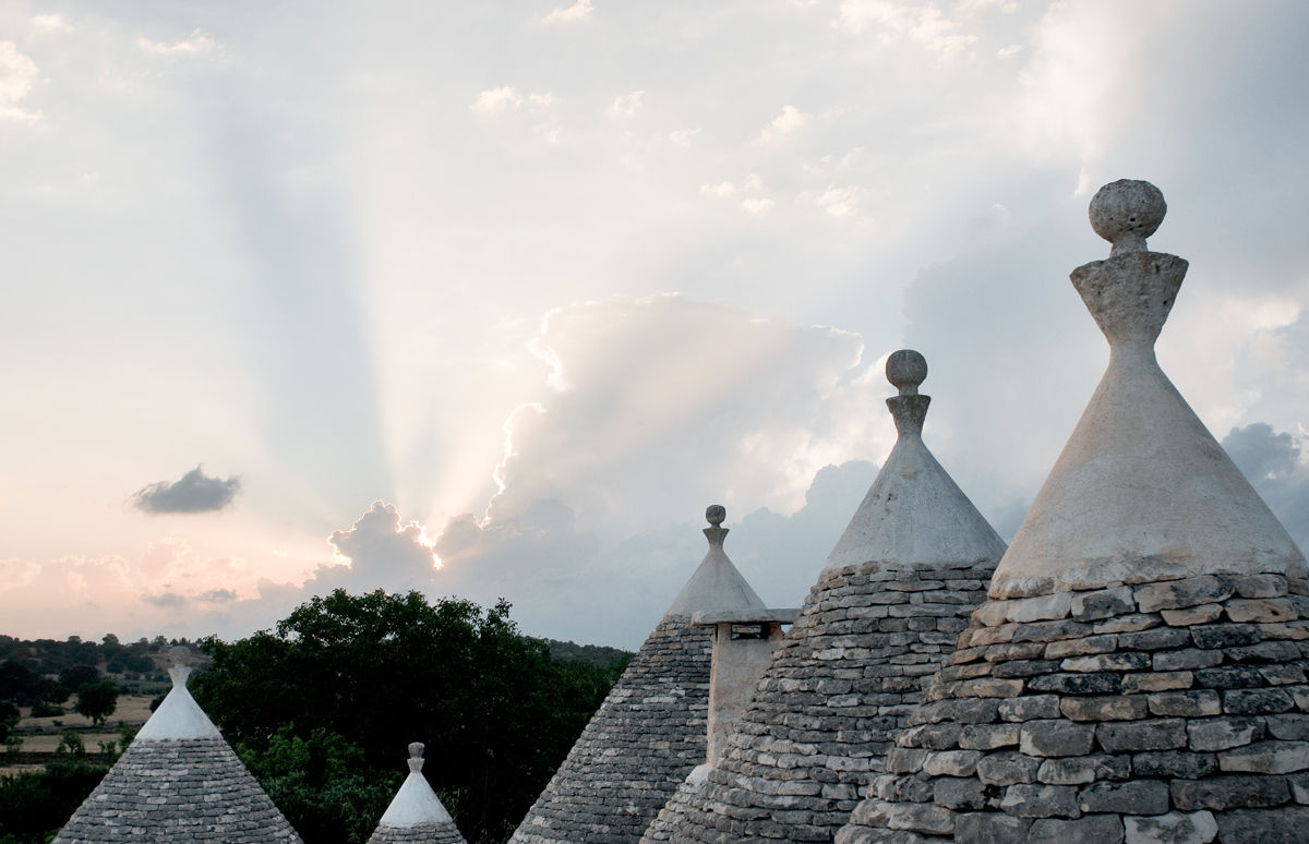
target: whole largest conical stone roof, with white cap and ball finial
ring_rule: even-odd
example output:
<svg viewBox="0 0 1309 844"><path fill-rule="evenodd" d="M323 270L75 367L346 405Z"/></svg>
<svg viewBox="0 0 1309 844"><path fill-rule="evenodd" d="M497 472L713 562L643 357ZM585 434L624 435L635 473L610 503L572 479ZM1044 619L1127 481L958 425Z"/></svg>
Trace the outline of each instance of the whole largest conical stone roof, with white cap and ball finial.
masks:
<svg viewBox="0 0 1309 844"><path fill-rule="evenodd" d="M1305 840L1309 569L1155 360L1164 212L1092 200L1109 369L838 844Z"/></svg>

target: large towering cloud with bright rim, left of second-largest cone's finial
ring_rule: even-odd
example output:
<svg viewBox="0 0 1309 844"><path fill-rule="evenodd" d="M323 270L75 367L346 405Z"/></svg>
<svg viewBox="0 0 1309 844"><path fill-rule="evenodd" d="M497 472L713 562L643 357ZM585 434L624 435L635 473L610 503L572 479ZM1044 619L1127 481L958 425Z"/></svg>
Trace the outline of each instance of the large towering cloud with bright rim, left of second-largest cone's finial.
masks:
<svg viewBox="0 0 1309 844"><path fill-rule="evenodd" d="M848 332L664 296L550 311L530 349L546 390L505 423L491 521L542 500L619 531L702 497L789 513L822 466L890 445L890 387Z"/></svg>

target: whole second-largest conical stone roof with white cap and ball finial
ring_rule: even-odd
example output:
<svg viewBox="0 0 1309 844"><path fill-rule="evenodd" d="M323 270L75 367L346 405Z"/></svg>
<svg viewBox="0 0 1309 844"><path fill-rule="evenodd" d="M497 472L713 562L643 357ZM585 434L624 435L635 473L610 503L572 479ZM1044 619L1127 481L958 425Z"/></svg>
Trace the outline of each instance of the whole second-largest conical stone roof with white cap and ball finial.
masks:
<svg viewBox="0 0 1309 844"><path fill-rule="evenodd" d="M720 765L649 840L830 841L882 769L1004 542L923 444L922 355L886 364L899 438L759 682Z"/></svg>

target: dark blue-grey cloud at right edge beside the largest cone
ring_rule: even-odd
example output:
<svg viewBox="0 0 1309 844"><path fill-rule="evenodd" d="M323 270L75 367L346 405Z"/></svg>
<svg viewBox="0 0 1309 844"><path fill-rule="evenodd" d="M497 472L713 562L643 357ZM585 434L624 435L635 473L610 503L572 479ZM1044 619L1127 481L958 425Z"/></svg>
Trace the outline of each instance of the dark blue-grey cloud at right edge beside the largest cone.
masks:
<svg viewBox="0 0 1309 844"><path fill-rule="evenodd" d="M1300 461L1300 440L1254 423L1233 428L1223 438L1223 448L1300 550L1309 550L1309 466Z"/></svg>

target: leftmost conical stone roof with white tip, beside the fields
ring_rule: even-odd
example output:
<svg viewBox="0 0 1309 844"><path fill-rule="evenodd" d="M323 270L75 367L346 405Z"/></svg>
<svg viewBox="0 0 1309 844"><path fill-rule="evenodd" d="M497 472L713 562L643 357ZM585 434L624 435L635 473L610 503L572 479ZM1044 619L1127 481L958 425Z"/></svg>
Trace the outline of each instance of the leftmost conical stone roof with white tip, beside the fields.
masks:
<svg viewBox="0 0 1309 844"><path fill-rule="evenodd" d="M300 844L186 690L190 671L182 665L169 671L173 690L60 830L58 844Z"/></svg>

